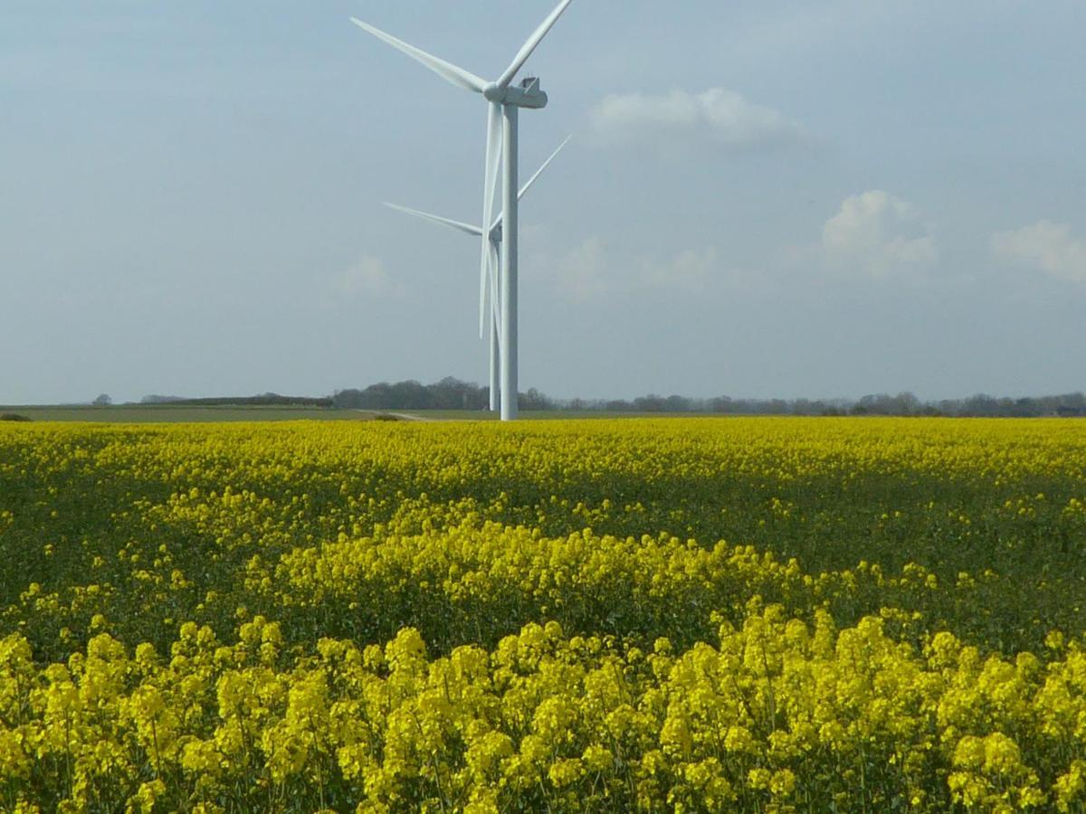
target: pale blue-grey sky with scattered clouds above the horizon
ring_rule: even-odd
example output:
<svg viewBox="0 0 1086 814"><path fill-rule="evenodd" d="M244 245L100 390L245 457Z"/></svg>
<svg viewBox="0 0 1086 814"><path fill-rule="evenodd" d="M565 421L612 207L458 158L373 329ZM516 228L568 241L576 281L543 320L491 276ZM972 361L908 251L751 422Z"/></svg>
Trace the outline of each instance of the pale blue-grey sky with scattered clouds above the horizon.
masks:
<svg viewBox="0 0 1086 814"><path fill-rule="evenodd" d="M485 105L552 0L4 0L0 404L484 383ZM573 0L520 385L1086 390L1081 0Z"/></svg>

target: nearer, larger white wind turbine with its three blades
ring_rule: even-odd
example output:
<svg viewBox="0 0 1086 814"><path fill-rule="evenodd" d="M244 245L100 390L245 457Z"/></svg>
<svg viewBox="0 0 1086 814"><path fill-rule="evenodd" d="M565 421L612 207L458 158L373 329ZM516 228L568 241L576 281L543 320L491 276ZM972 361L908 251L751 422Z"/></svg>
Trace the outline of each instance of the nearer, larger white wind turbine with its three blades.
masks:
<svg viewBox="0 0 1086 814"><path fill-rule="evenodd" d="M523 79L514 86L513 79L523 67L528 58L547 35L547 31L558 22L558 17L569 7L572 0L561 0L546 20L536 28L532 36L517 52L505 72L494 81L487 81L469 71L457 67L442 59L428 54L391 34L351 18L359 28L372 34L393 48L403 51L412 59L422 63L438 76L466 90L481 93L487 100L487 164L483 181L483 226L494 221L494 185L497 180L498 163L503 164L503 239L502 239L502 282L500 285L501 306L501 367L502 381L502 420L512 421L517 417L517 250L519 237L518 222L518 122L521 107L539 110L546 106L547 96L540 89L538 78ZM500 129L502 133L500 133ZM504 137L504 138L503 138ZM504 158L504 161L502 161ZM485 329L487 280L490 268L494 264L491 256L491 242L488 234L482 236L482 257L479 268L479 334Z"/></svg>

